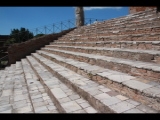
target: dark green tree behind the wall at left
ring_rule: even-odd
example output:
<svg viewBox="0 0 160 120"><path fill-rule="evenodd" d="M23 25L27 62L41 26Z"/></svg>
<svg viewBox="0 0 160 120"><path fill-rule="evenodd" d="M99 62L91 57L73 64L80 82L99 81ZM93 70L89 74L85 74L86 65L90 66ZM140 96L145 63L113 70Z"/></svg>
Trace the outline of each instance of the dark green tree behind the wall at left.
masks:
<svg viewBox="0 0 160 120"><path fill-rule="evenodd" d="M23 27L19 29L11 30L10 38L15 39L15 43L25 42L31 38L33 38L33 33L31 33L28 29Z"/></svg>

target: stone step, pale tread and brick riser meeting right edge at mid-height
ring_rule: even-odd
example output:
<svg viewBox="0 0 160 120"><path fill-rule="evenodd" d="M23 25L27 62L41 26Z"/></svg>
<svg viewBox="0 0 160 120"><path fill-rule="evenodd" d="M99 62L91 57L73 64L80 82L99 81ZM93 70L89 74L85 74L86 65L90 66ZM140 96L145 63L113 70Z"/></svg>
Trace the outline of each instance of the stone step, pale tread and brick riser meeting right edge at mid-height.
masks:
<svg viewBox="0 0 160 120"><path fill-rule="evenodd" d="M103 68L120 71L138 77L142 76L143 78L160 82L160 64L107 57L96 54L71 52L53 48L42 48L42 50L92 65L98 65Z"/></svg>

